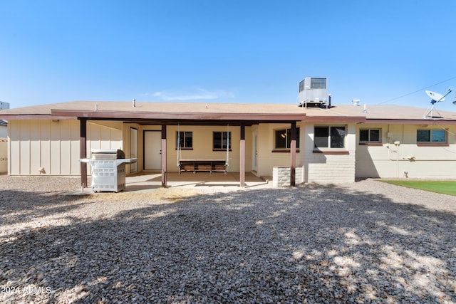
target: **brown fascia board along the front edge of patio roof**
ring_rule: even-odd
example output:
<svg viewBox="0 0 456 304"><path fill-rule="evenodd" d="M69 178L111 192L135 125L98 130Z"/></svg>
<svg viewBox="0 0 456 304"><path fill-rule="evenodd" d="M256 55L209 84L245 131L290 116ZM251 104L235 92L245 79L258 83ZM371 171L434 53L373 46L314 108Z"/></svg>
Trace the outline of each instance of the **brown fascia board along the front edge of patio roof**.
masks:
<svg viewBox="0 0 456 304"><path fill-rule="evenodd" d="M52 119L55 117L77 117L88 119L140 119L140 120L233 120L233 121L301 121L306 120L306 114L293 113L227 113L227 112L123 112L123 111L81 111L81 110L51 110Z"/></svg>

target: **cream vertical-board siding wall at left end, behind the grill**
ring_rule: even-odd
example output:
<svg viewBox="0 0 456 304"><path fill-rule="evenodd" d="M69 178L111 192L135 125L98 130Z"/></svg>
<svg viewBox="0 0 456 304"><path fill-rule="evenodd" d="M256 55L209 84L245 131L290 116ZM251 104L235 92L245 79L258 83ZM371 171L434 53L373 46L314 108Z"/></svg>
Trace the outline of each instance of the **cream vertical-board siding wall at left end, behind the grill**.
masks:
<svg viewBox="0 0 456 304"><path fill-rule="evenodd" d="M121 149L121 122L88 122L87 156L91 149ZM10 175L80 175L78 120L10 120ZM90 170L90 166L88 166ZM89 171L90 172L90 171Z"/></svg>

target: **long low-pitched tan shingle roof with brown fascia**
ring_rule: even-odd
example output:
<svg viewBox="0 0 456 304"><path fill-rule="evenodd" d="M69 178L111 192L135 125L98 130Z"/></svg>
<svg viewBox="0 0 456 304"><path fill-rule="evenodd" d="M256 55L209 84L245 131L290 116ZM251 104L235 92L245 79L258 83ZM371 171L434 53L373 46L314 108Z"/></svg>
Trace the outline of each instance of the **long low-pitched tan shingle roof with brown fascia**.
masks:
<svg viewBox="0 0 456 304"><path fill-rule="evenodd" d="M261 103L157 103L73 101L0 111L0 119L118 119L118 120L248 120L248 121L340 121L370 123L456 123L456 112L402 105L333 105L303 108L295 104Z"/></svg>

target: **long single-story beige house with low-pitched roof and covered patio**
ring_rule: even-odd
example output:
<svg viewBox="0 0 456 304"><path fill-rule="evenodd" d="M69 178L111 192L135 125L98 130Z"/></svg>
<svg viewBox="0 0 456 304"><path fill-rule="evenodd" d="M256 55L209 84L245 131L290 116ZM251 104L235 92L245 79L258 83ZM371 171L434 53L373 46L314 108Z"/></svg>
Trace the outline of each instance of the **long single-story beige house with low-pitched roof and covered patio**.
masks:
<svg viewBox="0 0 456 304"><path fill-rule="evenodd" d="M182 160L218 160L239 172L290 181L356 177L456 179L456 113L396 105L75 101L0 111L8 120L8 174L90 174L92 149L138 158L127 174L178 172ZM179 138L180 140L177 140ZM227 149L228 148L228 149ZM296 168L302 179L296 178Z"/></svg>

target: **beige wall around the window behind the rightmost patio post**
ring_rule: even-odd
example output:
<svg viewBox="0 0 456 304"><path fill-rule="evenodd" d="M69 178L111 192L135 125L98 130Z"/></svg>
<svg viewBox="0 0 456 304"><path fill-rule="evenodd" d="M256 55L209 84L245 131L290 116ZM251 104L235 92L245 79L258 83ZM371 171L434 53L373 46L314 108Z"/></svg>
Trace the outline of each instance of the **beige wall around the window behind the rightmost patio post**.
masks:
<svg viewBox="0 0 456 304"><path fill-rule="evenodd" d="M260 124L257 129L255 129L258 134L258 176L272 176L273 167L289 166L291 164L290 152L274 152L274 131L290 127L290 124ZM306 142L304 142L305 132L303 132L304 124L298 123L296 127L300 128L300 147L299 152L296 152L296 167L301 167L304 164L303 151L306 145ZM252 134L252 132L250 133Z"/></svg>

